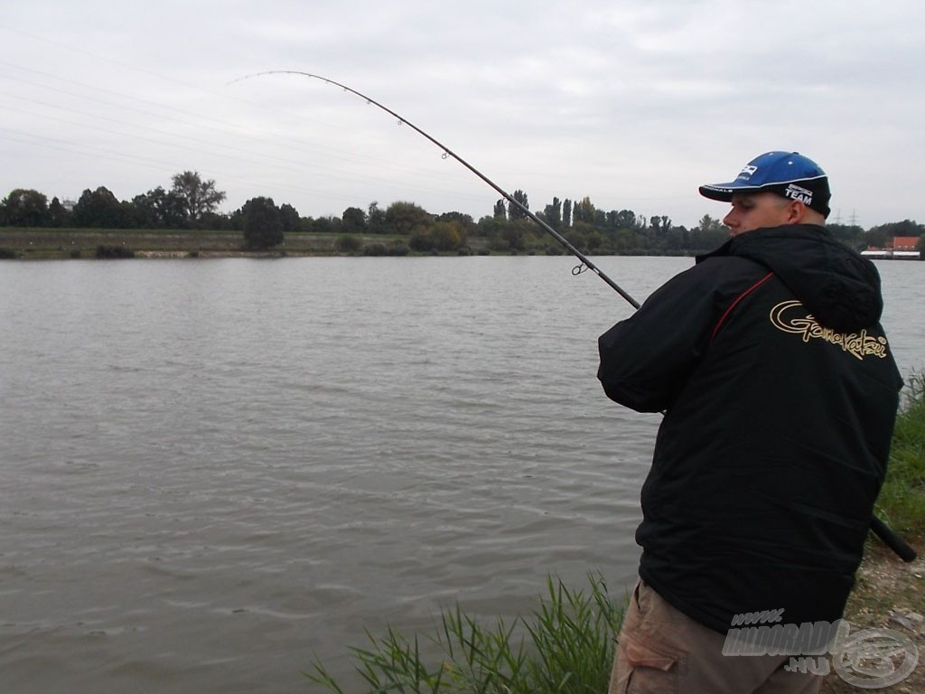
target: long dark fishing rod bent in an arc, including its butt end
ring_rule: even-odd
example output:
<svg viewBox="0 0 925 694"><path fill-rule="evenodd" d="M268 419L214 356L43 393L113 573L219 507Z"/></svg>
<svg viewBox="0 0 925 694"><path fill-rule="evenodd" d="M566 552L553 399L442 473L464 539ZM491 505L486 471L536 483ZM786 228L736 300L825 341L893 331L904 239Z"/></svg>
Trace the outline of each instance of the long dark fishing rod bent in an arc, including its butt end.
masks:
<svg viewBox="0 0 925 694"><path fill-rule="evenodd" d="M355 89L348 87L346 84L340 83L339 81L334 81L327 77L323 77L321 75L315 75L312 72L304 72L302 70L265 70L263 72L254 72L253 74L250 74L250 75L244 75L243 77L240 77L237 80L232 80L228 82L228 84L234 84L236 82L250 80L255 77L263 77L265 75L300 75L302 77L308 77L313 80L320 80L320 81L326 82L327 84L333 84L335 87L339 87L345 92L349 92L351 94L359 96L367 104L372 104L376 106L377 108L381 108L383 111L388 113L389 116L396 118L398 120L399 125L407 125L409 128L417 132L419 135L424 137L429 142L436 144L438 148L443 151L444 159L448 157L452 157L457 162L462 164L463 167L466 167L467 169L469 169L472 173L475 174L475 176L485 181L495 192L498 192L501 197L503 197L510 204L514 205L517 209L523 212L524 216L526 216L531 221L536 223L540 229L543 229L544 231L549 233L549 235L553 239L555 239L557 242L560 242L561 245L569 251L569 253L573 254L576 258L578 258L579 261L581 261L581 265L576 266L573 269L572 271L573 274L575 275L580 274L581 272L584 272L586 269L591 270L600 279L603 279L605 282L607 282L611 286L611 288L615 290L618 294L620 294L623 297L623 299L625 299L631 306L633 306L633 308L639 308L639 302L637 302L629 293L624 291L620 285L618 285L611 278L609 278L598 266L596 266L593 262L591 262L591 260L585 254L583 254L581 251L575 248L572 245L572 243L570 243L564 236L562 236L558 231L556 231L556 229L553 229L552 227L550 227L549 224L547 224L543 219L541 219L540 217L537 217L533 212L531 212L530 209L525 204L521 203L512 194L510 194L509 192L501 188L497 183L495 183L495 181L489 179L484 173L482 173L477 168L472 166L469 162L467 162L465 159L463 159L462 156L457 155L455 152L453 152L447 145L445 145L444 143L441 143L437 138L433 137L432 135L425 132L424 130L421 130L416 125L414 125L410 120L399 115L398 113L393 111L391 108L388 108L388 106L380 104L379 102L376 101L376 99L373 99L372 97L369 97L364 93L358 92ZM916 552L907 544L906 540L896 535L896 533L894 533L894 531L889 526L887 526L885 523L883 523L883 521L880 518L878 518L876 515L871 516L870 518L870 529L874 532L874 534L878 538L882 540L882 542L887 547L889 547L896 554L898 554L899 557L904 562L912 562L916 559Z"/></svg>

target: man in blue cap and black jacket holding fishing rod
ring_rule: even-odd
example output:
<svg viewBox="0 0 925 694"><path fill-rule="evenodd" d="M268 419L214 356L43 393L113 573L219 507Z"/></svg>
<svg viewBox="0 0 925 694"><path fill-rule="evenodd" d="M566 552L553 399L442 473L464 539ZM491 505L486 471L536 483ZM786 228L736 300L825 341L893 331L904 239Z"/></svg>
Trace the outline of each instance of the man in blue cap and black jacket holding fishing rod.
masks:
<svg viewBox="0 0 925 694"><path fill-rule="evenodd" d="M902 387L880 277L822 226L828 177L805 156L700 193L732 204L731 240L599 340L607 395L665 414L611 694L815 692L821 659L796 656L844 611ZM789 648L762 643L774 624Z"/></svg>

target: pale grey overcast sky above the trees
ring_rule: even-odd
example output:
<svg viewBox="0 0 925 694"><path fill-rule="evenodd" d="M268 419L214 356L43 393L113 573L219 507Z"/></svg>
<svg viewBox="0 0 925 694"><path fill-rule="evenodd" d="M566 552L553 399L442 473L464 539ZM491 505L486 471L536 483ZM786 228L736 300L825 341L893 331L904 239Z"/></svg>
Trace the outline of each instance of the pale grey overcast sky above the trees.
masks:
<svg viewBox="0 0 925 694"><path fill-rule="evenodd" d="M258 195L302 216L402 200L695 226L701 183L770 150L815 159L832 221L925 221L921 0L6 0L0 197L130 200L198 171L230 212Z"/></svg>

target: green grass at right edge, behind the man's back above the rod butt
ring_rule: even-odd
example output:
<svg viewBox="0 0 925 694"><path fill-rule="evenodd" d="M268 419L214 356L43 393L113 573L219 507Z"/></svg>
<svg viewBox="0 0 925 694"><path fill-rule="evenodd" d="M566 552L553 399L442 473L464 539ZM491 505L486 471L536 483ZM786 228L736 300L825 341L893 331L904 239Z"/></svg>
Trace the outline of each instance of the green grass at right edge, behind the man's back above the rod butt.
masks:
<svg viewBox="0 0 925 694"><path fill-rule="evenodd" d="M894 530L925 530L925 373L907 378L877 514Z"/></svg>

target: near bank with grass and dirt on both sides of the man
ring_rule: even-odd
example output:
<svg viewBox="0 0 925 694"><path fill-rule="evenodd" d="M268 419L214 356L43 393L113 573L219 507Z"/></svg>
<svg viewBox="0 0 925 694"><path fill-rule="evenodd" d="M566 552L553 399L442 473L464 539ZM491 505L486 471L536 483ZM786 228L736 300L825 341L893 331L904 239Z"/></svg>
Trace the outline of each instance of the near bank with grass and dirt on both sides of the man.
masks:
<svg viewBox="0 0 925 694"><path fill-rule="evenodd" d="M925 551L925 375L910 378L897 418L887 481L877 514L921 554ZM925 658L925 559L905 564L872 535L845 618L854 630L885 626L902 631ZM443 613L433 636L408 638L389 630L353 648L357 681L347 686L315 662L306 673L332 692L441 694L603 694L625 596L611 596L603 579L568 589L549 579L536 611L510 624L480 624L459 607ZM925 666L882 692L925 691ZM835 673L828 694L857 692Z"/></svg>

